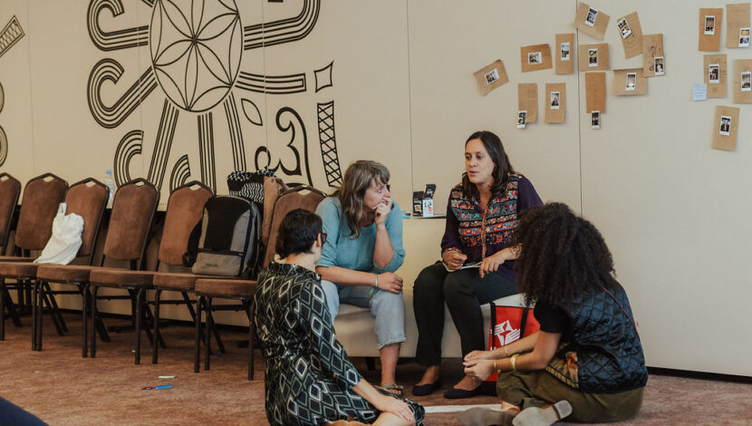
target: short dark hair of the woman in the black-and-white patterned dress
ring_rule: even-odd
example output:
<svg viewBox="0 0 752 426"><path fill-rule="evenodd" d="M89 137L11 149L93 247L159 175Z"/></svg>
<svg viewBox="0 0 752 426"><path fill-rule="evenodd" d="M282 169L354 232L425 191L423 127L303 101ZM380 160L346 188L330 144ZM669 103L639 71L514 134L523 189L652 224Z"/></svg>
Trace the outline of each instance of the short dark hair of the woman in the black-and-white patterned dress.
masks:
<svg viewBox="0 0 752 426"><path fill-rule="evenodd" d="M311 253L313 242L321 231L322 222L318 215L303 208L295 208L279 224L276 252L279 257Z"/></svg>

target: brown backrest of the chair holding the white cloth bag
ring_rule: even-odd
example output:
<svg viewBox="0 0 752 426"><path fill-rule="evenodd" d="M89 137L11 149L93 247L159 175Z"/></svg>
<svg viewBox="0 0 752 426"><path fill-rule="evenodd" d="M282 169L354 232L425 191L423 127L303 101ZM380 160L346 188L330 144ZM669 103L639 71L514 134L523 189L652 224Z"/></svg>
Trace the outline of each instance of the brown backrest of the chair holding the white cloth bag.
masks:
<svg viewBox="0 0 752 426"><path fill-rule="evenodd" d="M65 214L73 213L83 218L81 248L78 249L76 256L88 256L89 265L92 264L92 254L99 235L101 216L109 198L110 189L93 178L74 183L65 194L65 204L68 205Z"/></svg>

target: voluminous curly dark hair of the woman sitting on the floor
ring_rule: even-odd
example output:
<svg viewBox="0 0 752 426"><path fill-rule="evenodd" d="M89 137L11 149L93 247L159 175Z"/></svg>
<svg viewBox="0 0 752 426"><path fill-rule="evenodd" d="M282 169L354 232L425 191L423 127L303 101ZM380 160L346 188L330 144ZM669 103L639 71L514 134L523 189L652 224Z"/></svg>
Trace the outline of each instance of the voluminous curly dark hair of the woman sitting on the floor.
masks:
<svg viewBox="0 0 752 426"><path fill-rule="evenodd" d="M562 203L524 210L515 231L517 286L525 303L556 305L588 288L614 288L613 259L601 233Z"/></svg>

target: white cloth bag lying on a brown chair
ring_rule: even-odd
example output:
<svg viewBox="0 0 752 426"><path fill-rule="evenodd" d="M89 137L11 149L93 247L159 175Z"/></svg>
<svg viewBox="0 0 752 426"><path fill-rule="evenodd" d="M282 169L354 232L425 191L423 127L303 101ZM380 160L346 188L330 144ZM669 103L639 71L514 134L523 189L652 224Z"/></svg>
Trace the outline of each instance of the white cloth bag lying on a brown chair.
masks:
<svg viewBox="0 0 752 426"><path fill-rule="evenodd" d="M67 205L60 203L53 220L53 236L34 263L68 265L76 257L82 244L83 218L74 213L66 216L65 208Z"/></svg>

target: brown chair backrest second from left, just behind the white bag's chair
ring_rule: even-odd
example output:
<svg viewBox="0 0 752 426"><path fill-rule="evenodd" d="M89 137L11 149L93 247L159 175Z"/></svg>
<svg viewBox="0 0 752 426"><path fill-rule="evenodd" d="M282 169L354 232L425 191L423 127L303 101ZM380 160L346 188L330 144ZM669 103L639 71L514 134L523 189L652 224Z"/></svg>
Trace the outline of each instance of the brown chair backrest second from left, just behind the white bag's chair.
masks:
<svg viewBox="0 0 752 426"><path fill-rule="evenodd" d="M52 173L29 180L24 188L15 246L25 250L41 250L53 235L53 219L65 198L68 182Z"/></svg>

